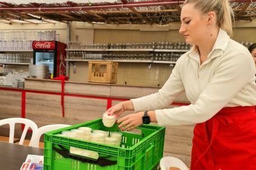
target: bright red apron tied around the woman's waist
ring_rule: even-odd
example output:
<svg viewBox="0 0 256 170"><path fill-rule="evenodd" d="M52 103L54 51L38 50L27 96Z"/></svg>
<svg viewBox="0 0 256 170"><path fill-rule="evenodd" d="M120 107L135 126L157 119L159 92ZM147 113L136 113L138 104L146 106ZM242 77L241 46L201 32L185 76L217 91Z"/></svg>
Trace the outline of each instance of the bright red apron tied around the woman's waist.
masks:
<svg viewBox="0 0 256 170"><path fill-rule="evenodd" d="M191 170L256 169L254 106L225 107L194 128Z"/></svg>

